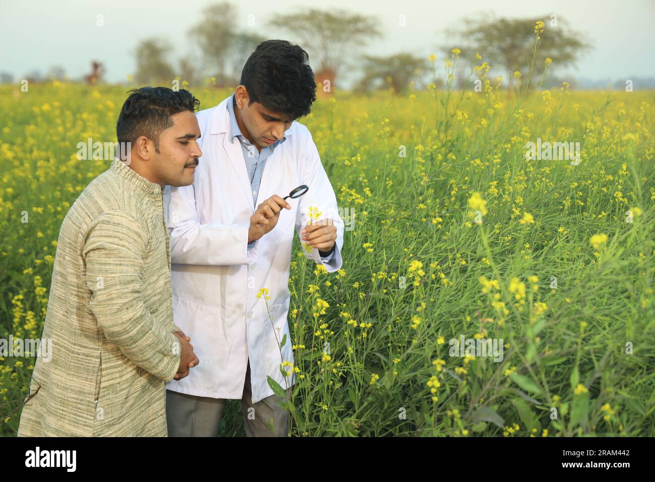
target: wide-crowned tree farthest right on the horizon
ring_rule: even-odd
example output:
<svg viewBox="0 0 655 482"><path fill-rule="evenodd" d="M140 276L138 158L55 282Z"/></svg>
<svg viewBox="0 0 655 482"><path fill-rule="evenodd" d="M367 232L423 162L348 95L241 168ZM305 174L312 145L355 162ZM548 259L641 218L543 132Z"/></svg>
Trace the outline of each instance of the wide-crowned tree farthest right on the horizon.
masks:
<svg viewBox="0 0 655 482"><path fill-rule="evenodd" d="M514 72L519 71L523 79L531 69L534 46L534 24L544 22L544 31L539 34L539 47L534 60L534 75L542 71L546 58L552 60L551 68L575 64L578 55L591 48L591 44L580 33L571 30L569 23L557 16L537 18L495 18L485 14L479 18L464 18L458 28L447 30L447 35L459 43L444 49L450 54L458 47L461 57L477 62L476 54L489 63L492 69L502 69L512 88Z"/></svg>

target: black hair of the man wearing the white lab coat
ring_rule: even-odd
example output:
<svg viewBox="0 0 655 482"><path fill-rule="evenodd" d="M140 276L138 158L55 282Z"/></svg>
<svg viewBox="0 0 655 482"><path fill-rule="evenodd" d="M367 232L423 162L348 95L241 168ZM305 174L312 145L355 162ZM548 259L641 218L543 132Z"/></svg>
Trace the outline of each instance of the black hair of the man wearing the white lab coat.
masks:
<svg viewBox="0 0 655 482"><path fill-rule="evenodd" d="M248 90L248 106L259 102L291 119L309 114L316 100L309 55L287 40L266 40L257 45L241 71L240 83Z"/></svg>

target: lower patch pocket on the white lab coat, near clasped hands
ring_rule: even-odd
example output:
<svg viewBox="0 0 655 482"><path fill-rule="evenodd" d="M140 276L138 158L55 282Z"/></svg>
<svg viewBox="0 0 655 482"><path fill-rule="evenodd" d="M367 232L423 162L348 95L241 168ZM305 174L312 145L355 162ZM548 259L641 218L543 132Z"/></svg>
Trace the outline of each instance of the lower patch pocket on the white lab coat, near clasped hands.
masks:
<svg viewBox="0 0 655 482"><path fill-rule="evenodd" d="M200 365L208 365L219 359L227 347L225 316L221 308L179 298L173 317L176 324L191 337L191 345Z"/></svg>

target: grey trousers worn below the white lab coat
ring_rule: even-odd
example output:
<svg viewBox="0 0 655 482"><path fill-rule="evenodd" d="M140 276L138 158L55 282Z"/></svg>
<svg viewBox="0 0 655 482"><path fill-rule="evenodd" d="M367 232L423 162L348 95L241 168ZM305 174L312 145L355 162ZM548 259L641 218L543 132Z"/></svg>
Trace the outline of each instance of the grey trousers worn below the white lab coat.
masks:
<svg viewBox="0 0 655 482"><path fill-rule="evenodd" d="M193 370L193 369L192 369ZM291 396L291 388L286 390ZM286 437L289 432L288 413L278 405L282 397L271 395L252 403L250 360L241 398L246 437ZM166 424L169 437L218 437L225 409L224 398L196 397L166 390ZM268 427L273 420L275 433Z"/></svg>

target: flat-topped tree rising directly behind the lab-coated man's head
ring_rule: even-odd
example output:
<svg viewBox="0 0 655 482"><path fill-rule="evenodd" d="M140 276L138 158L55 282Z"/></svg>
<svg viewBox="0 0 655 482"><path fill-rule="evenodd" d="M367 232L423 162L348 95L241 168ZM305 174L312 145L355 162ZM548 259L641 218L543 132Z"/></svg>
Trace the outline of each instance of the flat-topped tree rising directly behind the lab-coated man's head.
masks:
<svg viewBox="0 0 655 482"><path fill-rule="evenodd" d="M381 37L377 20L346 10L307 9L303 12L278 15L269 22L297 35L299 45L316 56L316 84L333 84L339 70L354 58L357 47L373 37ZM319 89L321 90L321 89Z"/></svg>

